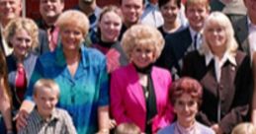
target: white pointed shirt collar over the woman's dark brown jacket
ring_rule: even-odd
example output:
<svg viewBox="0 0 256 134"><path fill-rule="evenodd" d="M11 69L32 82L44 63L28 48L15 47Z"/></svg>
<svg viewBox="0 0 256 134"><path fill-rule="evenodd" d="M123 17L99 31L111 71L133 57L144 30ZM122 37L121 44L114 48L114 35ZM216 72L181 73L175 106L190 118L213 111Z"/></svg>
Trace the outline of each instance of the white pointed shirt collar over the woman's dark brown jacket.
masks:
<svg viewBox="0 0 256 134"><path fill-rule="evenodd" d="M209 64L211 63L212 60L215 59L215 56L213 55L213 53L211 51L209 51L207 54L206 54L206 65L209 66ZM229 52L225 52L222 59L222 61L226 62L226 61L229 61L231 64L233 64L234 66L236 66L236 60L235 60L235 57L229 53ZM223 63L224 63L223 62Z"/></svg>

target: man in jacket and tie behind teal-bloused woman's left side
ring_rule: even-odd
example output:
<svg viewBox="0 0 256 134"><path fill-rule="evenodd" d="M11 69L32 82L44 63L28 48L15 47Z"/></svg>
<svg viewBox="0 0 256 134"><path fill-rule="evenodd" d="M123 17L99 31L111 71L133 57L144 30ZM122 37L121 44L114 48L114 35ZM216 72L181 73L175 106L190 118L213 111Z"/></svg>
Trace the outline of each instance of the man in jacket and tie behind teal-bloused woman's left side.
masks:
<svg viewBox="0 0 256 134"><path fill-rule="evenodd" d="M55 28L55 22L58 16L64 10L64 0L40 0L41 20L37 21L40 30L41 45L37 49L40 54L47 51L53 51L58 44L58 28Z"/></svg>

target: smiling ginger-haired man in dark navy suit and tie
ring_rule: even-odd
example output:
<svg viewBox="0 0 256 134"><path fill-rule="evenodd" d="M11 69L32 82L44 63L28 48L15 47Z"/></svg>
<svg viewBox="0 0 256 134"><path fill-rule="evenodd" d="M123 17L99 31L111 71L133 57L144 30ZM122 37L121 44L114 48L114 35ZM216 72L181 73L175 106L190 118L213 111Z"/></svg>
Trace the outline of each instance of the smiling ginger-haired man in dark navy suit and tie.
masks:
<svg viewBox="0 0 256 134"><path fill-rule="evenodd" d="M208 0L187 0L185 15L189 21L189 27L165 37L165 46L156 65L168 69L174 79L180 76L182 59L186 53L200 47L201 33L209 12Z"/></svg>

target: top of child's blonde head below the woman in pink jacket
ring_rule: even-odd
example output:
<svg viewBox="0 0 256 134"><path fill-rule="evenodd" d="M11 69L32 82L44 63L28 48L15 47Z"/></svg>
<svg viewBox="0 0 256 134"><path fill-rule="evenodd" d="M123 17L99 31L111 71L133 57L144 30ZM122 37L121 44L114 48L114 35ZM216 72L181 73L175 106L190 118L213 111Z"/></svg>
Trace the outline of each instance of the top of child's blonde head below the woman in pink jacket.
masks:
<svg viewBox="0 0 256 134"><path fill-rule="evenodd" d="M140 134L141 131L134 123L122 123L118 125L115 134Z"/></svg>

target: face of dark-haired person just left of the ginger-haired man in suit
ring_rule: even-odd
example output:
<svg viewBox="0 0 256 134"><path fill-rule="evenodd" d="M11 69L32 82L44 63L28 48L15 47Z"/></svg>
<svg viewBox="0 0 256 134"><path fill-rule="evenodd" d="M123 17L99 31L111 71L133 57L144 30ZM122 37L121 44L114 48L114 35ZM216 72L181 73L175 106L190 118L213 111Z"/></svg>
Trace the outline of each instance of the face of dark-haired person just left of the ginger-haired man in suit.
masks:
<svg viewBox="0 0 256 134"><path fill-rule="evenodd" d="M174 0L169 0L168 3L160 8L164 22L168 24L174 24L177 20L179 7L176 5Z"/></svg>

